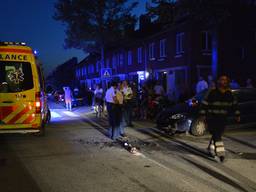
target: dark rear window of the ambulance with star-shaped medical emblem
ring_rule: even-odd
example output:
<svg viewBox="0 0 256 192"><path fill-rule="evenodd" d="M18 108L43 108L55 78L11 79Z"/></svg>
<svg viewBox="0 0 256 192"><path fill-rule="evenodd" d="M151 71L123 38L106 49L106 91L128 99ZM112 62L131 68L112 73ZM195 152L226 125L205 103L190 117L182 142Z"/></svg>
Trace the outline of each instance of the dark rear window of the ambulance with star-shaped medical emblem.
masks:
<svg viewBox="0 0 256 192"><path fill-rule="evenodd" d="M0 92L16 93L33 88L31 64L27 62L0 62Z"/></svg>

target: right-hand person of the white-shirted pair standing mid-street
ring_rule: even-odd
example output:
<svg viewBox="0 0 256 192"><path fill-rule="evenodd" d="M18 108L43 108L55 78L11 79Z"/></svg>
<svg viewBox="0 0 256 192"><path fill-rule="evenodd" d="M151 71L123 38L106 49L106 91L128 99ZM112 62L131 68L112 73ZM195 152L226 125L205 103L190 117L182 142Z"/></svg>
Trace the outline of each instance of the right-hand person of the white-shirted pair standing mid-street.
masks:
<svg viewBox="0 0 256 192"><path fill-rule="evenodd" d="M132 109L133 109L133 91L132 88L128 85L127 81L123 81L122 83L122 89L121 92L124 96L124 121L126 123L126 126L133 127L132 124Z"/></svg>

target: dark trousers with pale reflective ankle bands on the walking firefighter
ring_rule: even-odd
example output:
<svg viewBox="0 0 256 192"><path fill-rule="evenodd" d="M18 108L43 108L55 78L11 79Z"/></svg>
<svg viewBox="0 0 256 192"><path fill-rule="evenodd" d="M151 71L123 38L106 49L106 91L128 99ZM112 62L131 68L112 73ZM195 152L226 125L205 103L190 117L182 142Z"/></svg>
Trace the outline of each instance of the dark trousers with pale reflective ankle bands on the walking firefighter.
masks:
<svg viewBox="0 0 256 192"><path fill-rule="evenodd" d="M222 141L222 135L225 131L226 126L226 118L225 117L215 117L215 118L208 118L207 125L212 138L209 143L210 145L214 145L215 153L217 156L224 156L225 149L224 143Z"/></svg>

